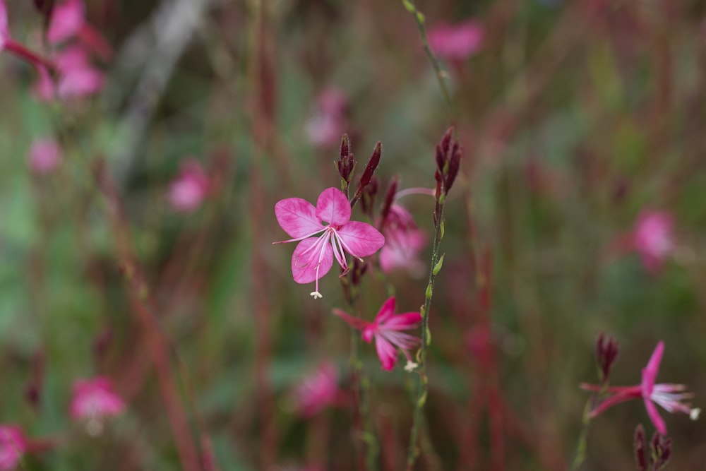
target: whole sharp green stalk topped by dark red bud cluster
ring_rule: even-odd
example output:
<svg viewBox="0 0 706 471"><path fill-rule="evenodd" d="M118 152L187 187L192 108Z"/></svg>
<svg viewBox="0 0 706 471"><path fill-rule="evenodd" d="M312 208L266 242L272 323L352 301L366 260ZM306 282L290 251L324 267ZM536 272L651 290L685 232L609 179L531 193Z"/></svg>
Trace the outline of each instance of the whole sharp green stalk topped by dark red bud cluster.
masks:
<svg viewBox="0 0 706 471"><path fill-rule="evenodd" d="M431 247L431 266L429 267L429 284L426 285L424 295L424 306L421 308L421 348L417 353L419 364L409 363L406 369L416 368L419 373L419 386L417 389L417 403L414 405L414 418L412 431L409 437L409 451L407 452L407 471L412 471L414 462L419 456L419 431L422 422L421 411L426 403L426 395L429 392L429 378L426 376L426 350L431 344L431 331L429 330L429 309L431 308L431 297L433 295L436 275L441 271L443 265L443 254L441 254L441 239L443 238L443 211L446 195L451 189L458 174L461 159L461 149L457 139L453 139L453 128L449 128L441 139L441 143L436 145L436 208L434 210L434 238Z"/></svg>

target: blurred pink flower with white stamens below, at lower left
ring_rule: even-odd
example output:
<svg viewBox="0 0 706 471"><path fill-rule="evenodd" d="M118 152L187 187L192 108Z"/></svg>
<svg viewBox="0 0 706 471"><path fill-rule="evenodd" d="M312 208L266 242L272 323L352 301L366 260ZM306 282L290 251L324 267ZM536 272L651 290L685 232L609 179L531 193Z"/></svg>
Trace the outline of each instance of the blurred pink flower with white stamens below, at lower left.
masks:
<svg viewBox="0 0 706 471"><path fill-rule="evenodd" d="M98 377L73 383L71 417L85 422L88 434L100 434L104 419L119 415L124 409L125 403L113 391L108 378Z"/></svg>

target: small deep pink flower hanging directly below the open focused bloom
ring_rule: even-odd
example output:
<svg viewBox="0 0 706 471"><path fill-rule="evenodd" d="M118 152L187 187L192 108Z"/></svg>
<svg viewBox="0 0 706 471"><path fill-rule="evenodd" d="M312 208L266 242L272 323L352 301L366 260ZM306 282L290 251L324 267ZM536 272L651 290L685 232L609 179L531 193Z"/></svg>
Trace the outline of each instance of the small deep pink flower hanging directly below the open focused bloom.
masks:
<svg viewBox="0 0 706 471"><path fill-rule="evenodd" d="M417 347L421 339L402 333L400 330L417 328L421 323L421 315L418 312L405 312L395 314L395 297L391 297L383 302L383 305L375 317L375 321L370 323L361 318L350 316L340 309L334 309L333 314L339 316L354 328L363 331L363 340L370 343L375 338L375 348L378 351L378 358L383 369L390 371L397 364L397 349L401 350L407 357L405 369L417 366L412 362L412 356L408 350Z"/></svg>

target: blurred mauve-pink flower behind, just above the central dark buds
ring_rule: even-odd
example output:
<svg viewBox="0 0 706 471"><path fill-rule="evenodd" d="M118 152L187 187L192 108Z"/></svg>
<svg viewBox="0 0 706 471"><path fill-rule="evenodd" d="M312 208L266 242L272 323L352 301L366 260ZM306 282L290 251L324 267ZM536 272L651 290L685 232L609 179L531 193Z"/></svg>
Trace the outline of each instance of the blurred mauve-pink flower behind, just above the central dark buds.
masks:
<svg viewBox="0 0 706 471"><path fill-rule="evenodd" d="M327 88L318 96L318 110L306 122L306 136L314 145L328 146L340 142L345 131L346 95L338 88Z"/></svg>

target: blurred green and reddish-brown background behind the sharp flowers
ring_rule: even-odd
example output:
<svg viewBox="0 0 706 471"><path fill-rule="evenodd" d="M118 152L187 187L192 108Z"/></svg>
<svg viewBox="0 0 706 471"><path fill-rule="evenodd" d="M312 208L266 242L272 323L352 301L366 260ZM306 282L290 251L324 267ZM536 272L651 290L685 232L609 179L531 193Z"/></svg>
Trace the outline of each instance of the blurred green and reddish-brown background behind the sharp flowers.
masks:
<svg viewBox="0 0 706 471"><path fill-rule="evenodd" d="M601 332L621 342L612 384L639 384L664 340L657 381L706 405L704 1L419 0L450 107L400 1L5 3L12 44L55 67L0 52L0 424L25 436L18 469L360 469L340 282L312 299L294 246L271 245L277 201L340 185L343 133L358 175L382 142L375 208L392 177L433 188L450 125L463 147L415 469L568 469ZM433 198L400 203L431 240ZM364 318L390 294L419 309L430 257L372 257ZM376 464L404 469L417 375L366 343L361 359ZM335 398L303 412L326 362ZM124 401L99 429L70 413L97 377ZM662 417L669 469L702 469L704 422ZM592 420L580 469L633 469L638 423L652 436L639 399Z"/></svg>

